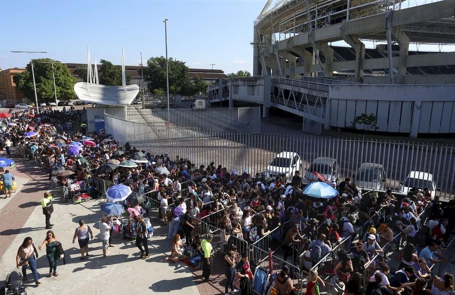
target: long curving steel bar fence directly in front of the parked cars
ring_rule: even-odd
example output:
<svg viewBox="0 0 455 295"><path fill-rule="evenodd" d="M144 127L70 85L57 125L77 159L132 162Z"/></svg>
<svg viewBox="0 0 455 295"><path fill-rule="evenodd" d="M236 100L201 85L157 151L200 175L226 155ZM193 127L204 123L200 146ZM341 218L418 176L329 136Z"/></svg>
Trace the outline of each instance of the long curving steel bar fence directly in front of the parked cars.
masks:
<svg viewBox="0 0 455 295"><path fill-rule="evenodd" d="M455 195L452 177L455 174L455 149L452 146L166 128L108 114L105 114L105 123L106 133L113 134L122 145L129 142L131 146L153 154L167 152L171 158L179 155L198 164L207 165L213 161L229 171L247 169L250 174L265 173L269 162L278 153L290 151L300 156L295 169L307 181L313 177L310 170L319 170L323 174L327 170L328 175L336 176L339 181L352 178L352 182L363 189L400 191L404 189L402 182L410 172L417 171L432 174L435 187L440 189L434 194L445 199ZM311 165L316 158L335 159L336 167ZM378 173L373 169L371 173L357 173L362 163L380 164L376 168L381 171ZM432 189L431 181L421 181L422 186L424 183Z"/></svg>

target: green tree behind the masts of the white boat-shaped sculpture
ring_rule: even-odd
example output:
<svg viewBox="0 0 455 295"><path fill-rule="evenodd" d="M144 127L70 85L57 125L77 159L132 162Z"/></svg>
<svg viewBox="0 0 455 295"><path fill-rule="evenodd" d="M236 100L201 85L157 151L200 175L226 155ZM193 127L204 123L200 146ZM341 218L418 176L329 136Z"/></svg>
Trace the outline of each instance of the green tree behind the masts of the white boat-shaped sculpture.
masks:
<svg viewBox="0 0 455 295"><path fill-rule="evenodd" d="M101 59L101 66L98 69L98 79L101 85L122 86L122 66L114 65L112 62ZM93 66L92 66L93 68ZM77 74L83 82L87 82L87 66L76 67L74 73ZM131 75L126 72L125 78L127 85L131 84Z"/></svg>

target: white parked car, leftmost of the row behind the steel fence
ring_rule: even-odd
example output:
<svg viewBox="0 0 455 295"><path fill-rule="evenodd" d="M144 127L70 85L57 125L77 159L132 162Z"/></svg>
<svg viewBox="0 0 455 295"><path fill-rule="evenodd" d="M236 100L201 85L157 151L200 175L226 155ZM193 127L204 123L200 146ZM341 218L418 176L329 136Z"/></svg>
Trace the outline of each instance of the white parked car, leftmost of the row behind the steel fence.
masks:
<svg viewBox="0 0 455 295"><path fill-rule="evenodd" d="M265 177L275 178L278 174L285 174L291 179L301 166L302 161L296 152L282 151L267 166Z"/></svg>

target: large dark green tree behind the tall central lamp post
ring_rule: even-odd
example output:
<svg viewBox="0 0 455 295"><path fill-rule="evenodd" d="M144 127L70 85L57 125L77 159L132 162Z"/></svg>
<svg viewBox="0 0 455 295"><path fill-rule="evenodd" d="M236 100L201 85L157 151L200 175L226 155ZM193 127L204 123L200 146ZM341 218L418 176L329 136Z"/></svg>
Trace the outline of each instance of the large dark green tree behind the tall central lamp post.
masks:
<svg viewBox="0 0 455 295"><path fill-rule="evenodd" d="M188 67L185 62L169 58L169 93L183 93L191 86L188 77ZM139 70L140 73L140 70ZM144 81L147 82L147 89L154 92L155 89L166 89L166 58L163 56L150 58L147 66L144 67Z"/></svg>

